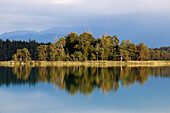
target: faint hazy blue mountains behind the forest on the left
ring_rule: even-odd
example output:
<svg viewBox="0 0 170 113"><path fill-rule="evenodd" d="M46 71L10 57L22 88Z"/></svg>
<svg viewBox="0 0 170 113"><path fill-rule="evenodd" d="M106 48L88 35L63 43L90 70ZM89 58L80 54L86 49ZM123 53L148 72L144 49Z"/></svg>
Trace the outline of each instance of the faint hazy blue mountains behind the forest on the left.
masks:
<svg viewBox="0 0 170 113"><path fill-rule="evenodd" d="M88 27L53 27L46 29L44 31L27 31L27 30L18 30L13 32L7 32L0 35L2 40L22 40L28 41L36 40L37 42L53 42L54 38L57 36L60 39L63 36L66 36L70 32L77 32L78 34L82 32L90 32ZM95 33L98 37L99 34Z"/></svg>

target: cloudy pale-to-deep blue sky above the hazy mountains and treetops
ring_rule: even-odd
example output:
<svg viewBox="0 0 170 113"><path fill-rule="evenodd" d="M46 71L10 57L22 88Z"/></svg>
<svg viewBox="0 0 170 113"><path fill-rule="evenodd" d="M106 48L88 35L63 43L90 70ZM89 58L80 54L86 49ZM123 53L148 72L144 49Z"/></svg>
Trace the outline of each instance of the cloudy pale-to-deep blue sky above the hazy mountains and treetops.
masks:
<svg viewBox="0 0 170 113"><path fill-rule="evenodd" d="M90 27L150 47L170 43L169 0L0 0L0 34ZM153 41L152 41L153 40Z"/></svg>

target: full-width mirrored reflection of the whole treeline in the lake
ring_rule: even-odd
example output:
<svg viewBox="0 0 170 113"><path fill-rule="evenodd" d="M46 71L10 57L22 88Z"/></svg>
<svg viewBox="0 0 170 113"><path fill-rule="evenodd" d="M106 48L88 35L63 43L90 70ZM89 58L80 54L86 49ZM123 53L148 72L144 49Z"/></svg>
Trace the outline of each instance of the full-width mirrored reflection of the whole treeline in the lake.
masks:
<svg viewBox="0 0 170 113"><path fill-rule="evenodd" d="M71 94L91 94L95 88L108 93L120 83L130 87L150 77L170 77L170 67L0 67L0 85L50 82Z"/></svg>

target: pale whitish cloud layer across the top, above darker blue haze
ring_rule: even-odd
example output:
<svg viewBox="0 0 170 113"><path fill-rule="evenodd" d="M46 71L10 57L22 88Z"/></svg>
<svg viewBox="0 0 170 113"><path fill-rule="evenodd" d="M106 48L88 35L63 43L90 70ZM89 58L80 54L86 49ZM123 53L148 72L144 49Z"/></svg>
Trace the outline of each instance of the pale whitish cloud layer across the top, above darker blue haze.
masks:
<svg viewBox="0 0 170 113"><path fill-rule="evenodd" d="M0 24L3 26L0 33L23 27L50 27L54 23L64 23L65 18L76 18L75 16L84 18L91 15L102 17L147 13L168 17L169 6L170 0L0 0ZM24 23L30 24L24 26Z"/></svg>

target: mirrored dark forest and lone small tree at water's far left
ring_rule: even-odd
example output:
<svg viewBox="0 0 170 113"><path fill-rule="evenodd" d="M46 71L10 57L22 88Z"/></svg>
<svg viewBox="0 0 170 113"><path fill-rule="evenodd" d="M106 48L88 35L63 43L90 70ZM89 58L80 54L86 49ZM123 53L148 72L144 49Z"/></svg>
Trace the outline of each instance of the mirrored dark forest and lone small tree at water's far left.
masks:
<svg viewBox="0 0 170 113"><path fill-rule="evenodd" d="M0 86L6 85L35 85L37 82L36 68L31 67L0 67Z"/></svg>

